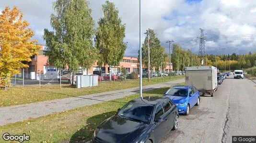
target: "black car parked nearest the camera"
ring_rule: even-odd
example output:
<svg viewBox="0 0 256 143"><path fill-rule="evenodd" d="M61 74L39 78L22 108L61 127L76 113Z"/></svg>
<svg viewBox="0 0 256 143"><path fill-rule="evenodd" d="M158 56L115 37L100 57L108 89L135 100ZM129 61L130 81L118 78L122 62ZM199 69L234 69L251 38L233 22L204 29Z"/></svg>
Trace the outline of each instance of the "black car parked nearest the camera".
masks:
<svg viewBox="0 0 256 143"><path fill-rule="evenodd" d="M94 143L158 143L178 128L177 106L166 97L132 100L94 132Z"/></svg>

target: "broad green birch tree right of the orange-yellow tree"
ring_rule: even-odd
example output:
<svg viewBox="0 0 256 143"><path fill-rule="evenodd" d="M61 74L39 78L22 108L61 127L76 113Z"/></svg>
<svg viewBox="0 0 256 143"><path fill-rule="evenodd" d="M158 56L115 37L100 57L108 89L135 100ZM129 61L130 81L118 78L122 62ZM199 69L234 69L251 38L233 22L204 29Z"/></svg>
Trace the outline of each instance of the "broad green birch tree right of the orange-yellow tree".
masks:
<svg viewBox="0 0 256 143"><path fill-rule="evenodd" d="M94 22L87 0L57 0L51 15L54 31L44 31L49 62L59 68L68 65L69 70L88 70L97 60L93 48ZM73 84L73 76L72 76Z"/></svg>

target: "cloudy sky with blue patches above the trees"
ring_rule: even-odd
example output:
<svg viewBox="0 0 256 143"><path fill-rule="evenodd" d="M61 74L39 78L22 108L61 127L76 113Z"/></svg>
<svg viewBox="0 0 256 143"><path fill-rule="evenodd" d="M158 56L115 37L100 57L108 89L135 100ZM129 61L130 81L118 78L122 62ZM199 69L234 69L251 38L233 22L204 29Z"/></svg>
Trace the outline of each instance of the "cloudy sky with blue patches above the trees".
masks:
<svg viewBox="0 0 256 143"><path fill-rule="evenodd" d="M43 31L51 30L50 15L54 0L1 0L0 10L17 6L30 22L38 43L45 44ZM128 42L126 56L138 57L140 48L139 0L109 0L119 10L119 17L126 24ZM105 0L89 0L92 17L97 21L103 16ZM206 54L245 54L256 51L256 0L141 0L142 41L146 30L153 29L169 53L173 40L184 49L198 54L200 30L206 37Z"/></svg>

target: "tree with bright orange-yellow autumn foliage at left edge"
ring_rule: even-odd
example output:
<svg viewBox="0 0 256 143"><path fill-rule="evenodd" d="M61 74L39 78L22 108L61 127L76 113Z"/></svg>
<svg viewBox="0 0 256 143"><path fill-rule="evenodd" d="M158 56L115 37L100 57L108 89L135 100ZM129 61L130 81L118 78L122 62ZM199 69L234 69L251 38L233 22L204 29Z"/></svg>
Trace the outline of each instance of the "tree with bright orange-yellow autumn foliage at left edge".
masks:
<svg viewBox="0 0 256 143"><path fill-rule="evenodd" d="M34 32L23 20L23 13L14 6L6 7L0 14L0 87L10 86L11 77L28 67L23 61L31 61L39 46L31 40Z"/></svg>

